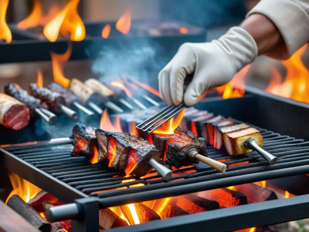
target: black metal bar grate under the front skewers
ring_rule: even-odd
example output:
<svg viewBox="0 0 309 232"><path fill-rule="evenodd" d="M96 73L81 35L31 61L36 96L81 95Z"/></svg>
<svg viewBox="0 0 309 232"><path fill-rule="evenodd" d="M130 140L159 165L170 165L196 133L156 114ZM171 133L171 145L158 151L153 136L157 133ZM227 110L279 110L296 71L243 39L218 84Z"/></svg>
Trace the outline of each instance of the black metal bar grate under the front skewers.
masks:
<svg viewBox="0 0 309 232"><path fill-rule="evenodd" d="M236 123L242 123L237 120L234 121ZM13 155L13 157L17 157L48 174L49 177L52 176L62 183L65 183L65 186L73 187L80 193L79 195L81 197L89 195L98 196L99 198L146 192L155 189L166 189L166 192L168 192L169 187L219 179L224 181L224 179L228 177L258 174L265 171L269 171L267 178L270 179L272 177L274 178L274 176L272 176L272 170L309 165L309 142L286 135L280 135L262 128L255 128L261 131L264 140L263 148L278 157L275 165L268 165L268 162L256 152L243 156L231 157L224 150L216 150L212 146L209 146L207 152L210 158L215 160L228 159L228 161L224 162L228 165L225 174L219 173L217 170L203 163L199 163L193 167L174 170L172 181L168 183L164 183L163 178L156 172L150 173L151 175L146 178L125 178L113 169L100 167L97 164L91 165L85 157L72 157L70 155L72 145L70 144L11 146L3 148L6 152L2 153L4 155ZM20 172L20 170L11 171L16 173ZM22 177L27 180L29 175L32 175L32 173L23 173ZM135 180L121 183L123 180L127 179ZM249 182L252 181L248 179L248 183ZM141 183L145 186L134 186ZM226 186L229 186L228 184L229 183L225 183ZM53 183L50 183L50 185L53 185ZM231 185L235 184L231 183ZM55 187L51 188L51 191L49 189L44 190L52 194L55 191L57 192L57 190L54 189ZM209 188L211 188L211 186ZM66 194L69 193L70 191L66 191ZM62 194L65 193L58 191L54 195L59 199L70 198L70 196L62 198L60 196ZM72 197L74 196L71 196L71 198ZM158 196L157 198L160 197Z"/></svg>

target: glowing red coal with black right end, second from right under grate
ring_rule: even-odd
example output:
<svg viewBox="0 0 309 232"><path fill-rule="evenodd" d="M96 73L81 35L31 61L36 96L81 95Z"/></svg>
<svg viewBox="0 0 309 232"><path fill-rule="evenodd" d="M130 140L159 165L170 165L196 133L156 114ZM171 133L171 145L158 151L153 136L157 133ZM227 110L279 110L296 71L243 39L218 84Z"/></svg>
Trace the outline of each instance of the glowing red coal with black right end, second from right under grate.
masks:
<svg viewBox="0 0 309 232"><path fill-rule="evenodd" d="M218 188L197 193L198 196L215 200L221 207L248 204L247 197L240 192L227 188Z"/></svg>

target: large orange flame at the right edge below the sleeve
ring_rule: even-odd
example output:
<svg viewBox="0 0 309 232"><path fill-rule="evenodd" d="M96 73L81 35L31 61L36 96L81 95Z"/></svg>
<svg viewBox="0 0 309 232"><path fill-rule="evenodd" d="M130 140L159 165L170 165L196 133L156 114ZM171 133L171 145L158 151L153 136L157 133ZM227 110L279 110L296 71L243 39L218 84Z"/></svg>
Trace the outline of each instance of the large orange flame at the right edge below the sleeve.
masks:
<svg viewBox="0 0 309 232"><path fill-rule="evenodd" d="M298 49L289 59L282 61L287 72L286 79L282 83L280 73L274 72L274 68L270 67L272 79L265 89L266 92L309 103L309 70L302 61L302 55L307 48L308 44Z"/></svg>

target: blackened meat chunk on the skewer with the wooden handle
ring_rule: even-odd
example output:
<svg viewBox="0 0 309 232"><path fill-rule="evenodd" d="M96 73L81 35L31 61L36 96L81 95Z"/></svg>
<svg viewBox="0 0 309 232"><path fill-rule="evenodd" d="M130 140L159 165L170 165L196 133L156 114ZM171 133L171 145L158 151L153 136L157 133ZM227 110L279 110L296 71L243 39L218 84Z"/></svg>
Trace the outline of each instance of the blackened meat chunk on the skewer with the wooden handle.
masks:
<svg viewBox="0 0 309 232"><path fill-rule="evenodd" d="M152 134L152 141L159 149L161 157L170 166L180 168L192 165L198 161L190 159L190 151L208 156L206 142L203 138L197 138L192 131L176 128L172 135Z"/></svg>

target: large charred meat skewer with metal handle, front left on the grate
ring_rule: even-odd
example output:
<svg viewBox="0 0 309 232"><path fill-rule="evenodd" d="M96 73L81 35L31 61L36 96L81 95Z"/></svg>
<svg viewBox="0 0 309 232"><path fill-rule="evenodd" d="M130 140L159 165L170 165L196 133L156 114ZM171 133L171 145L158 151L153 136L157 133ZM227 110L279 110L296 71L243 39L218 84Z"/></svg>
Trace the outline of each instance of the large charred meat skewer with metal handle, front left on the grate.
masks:
<svg viewBox="0 0 309 232"><path fill-rule="evenodd" d="M85 156L89 161L108 165L126 175L146 175L155 168L169 180L172 171L159 164L159 151L148 141L122 132L108 132L95 127L75 124L70 136L73 156Z"/></svg>

